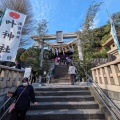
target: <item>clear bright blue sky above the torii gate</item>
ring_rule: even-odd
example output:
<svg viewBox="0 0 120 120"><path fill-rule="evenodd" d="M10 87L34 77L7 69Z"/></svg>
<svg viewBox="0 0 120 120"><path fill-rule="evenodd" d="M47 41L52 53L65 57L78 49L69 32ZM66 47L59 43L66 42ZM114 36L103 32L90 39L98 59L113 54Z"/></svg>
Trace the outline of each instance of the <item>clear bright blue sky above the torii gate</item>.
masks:
<svg viewBox="0 0 120 120"><path fill-rule="evenodd" d="M37 21L46 19L49 22L48 34L55 34L59 30L63 33L79 30L92 1L31 0L35 19ZM101 10L94 19L95 27L102 26L108 21L106 8L110 14L120 11L120 0L95 0L95 2L105 3L101 5Z"/></svg>

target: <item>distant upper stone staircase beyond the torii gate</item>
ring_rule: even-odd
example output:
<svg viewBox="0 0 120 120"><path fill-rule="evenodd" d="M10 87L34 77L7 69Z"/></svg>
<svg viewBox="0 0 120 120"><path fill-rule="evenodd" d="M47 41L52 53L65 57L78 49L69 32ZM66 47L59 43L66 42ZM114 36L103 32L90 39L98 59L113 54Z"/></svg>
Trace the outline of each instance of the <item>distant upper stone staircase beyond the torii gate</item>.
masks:
<svg viewBox="0 0 120 120"><path fill-rule="evenodd" d="M70 83L70 77L68 74L68 68L66 65L55 66L55 76L50 83Z"/></svg>

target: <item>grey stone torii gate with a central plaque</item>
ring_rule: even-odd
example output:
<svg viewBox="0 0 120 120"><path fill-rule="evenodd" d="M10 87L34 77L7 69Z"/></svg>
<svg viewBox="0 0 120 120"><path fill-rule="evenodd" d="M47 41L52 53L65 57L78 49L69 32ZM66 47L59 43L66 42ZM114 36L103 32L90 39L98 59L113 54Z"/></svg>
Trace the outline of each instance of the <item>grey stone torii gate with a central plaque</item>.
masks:
<svg viewBox="0 0 120 120"><path fill-rule="evenodd" d="M40 52L40 60L41 60L40 67L42 67L43 51L44 51L44 44L45 44L44 41L46 41L46 40L57 40L56 46L57 45L60 46L60 45L63 45L63 44L67 44L67 43L63 43L63 39L76 38L79 59L83 60L83 54L82 54L82 48L81 48L81 40L79 39L79 35L76 32L64 33L63 34L62 31L56 31L56 34L46 34L42 38L39 38L38 35L31 35L30 37L37 42L37 47L41 48L41 52Z"/></svg>

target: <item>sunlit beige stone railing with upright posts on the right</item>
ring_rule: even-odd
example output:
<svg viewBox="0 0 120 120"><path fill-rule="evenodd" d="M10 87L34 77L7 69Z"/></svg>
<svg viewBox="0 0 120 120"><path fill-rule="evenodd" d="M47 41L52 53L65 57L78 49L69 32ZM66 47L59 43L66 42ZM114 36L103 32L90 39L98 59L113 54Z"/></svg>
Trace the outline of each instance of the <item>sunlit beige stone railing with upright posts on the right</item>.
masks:
<svg viewBox="0 0 120 120"><path fill-rule="evenodd" d="M120 59L92 70L92 77L104 92L120 108Z"/></svg>

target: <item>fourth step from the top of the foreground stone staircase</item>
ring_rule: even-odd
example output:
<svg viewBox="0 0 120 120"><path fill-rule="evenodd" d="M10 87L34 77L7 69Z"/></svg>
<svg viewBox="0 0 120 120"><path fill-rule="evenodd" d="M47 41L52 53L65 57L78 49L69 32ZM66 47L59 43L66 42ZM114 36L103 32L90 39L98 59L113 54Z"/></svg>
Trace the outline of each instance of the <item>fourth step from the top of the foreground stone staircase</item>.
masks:
<svg viewBox="0 0 120 120"><path fill-rule="evenodd" d="M31 104L30 110L52 110L52 109L99 109L94 101L86 102L40 102L39 105Z"/></svg>

